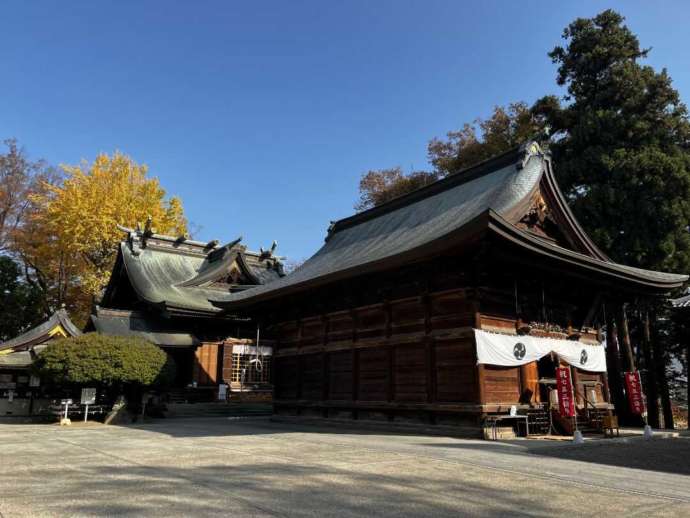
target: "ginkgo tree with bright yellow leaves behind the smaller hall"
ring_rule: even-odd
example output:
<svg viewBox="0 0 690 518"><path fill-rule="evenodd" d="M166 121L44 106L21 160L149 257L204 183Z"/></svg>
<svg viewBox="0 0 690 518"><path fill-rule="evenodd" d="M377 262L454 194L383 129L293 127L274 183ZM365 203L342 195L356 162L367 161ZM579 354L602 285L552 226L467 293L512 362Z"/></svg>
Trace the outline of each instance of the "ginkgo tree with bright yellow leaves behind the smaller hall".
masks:
<svg viewBox="0 0 690 518"><path fill-rule="evenodd" d="M17 248L54 304L85 317L108 282L123 235L151 218L159 233L185 235L182 202L166 197L148 168L129 156L100 154L92 163L63 165L64 179L31 195Z"/></svg>

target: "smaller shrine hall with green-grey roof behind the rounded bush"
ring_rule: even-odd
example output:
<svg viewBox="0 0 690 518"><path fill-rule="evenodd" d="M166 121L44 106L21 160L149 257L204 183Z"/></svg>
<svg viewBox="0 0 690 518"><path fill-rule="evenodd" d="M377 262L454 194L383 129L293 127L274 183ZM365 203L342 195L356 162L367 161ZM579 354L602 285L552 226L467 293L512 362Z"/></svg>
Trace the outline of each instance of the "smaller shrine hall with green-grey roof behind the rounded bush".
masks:
<svg viewBox="0 0 690 518"><path fill-rule="evenodd" d="M275 243L251 252L242 238L219 246L159 235L150 225L121 229L126 239L87 331L138 336L160 346L175 360L177 392L194 389L185 399L215 397L221 383L231 391L270 394L270 344L263 341L257 349L256 325L221 314L209 299L280 279Z"/></svg>

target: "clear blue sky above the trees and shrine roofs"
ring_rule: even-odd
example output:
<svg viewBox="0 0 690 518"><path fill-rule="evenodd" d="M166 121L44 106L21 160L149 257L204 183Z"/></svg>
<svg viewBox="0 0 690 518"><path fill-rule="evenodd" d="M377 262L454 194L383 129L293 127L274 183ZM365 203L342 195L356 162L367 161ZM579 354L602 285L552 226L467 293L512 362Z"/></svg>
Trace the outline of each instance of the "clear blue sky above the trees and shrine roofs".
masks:
<svg viewBox="0 0 690 518"><path fill-rule="evenodd" d="M690 101L683 2L7 1L0 138L53 164L123 151L195 237L310 256L361 174L494 105L559 93L546 53L613 7Z"/></svg>

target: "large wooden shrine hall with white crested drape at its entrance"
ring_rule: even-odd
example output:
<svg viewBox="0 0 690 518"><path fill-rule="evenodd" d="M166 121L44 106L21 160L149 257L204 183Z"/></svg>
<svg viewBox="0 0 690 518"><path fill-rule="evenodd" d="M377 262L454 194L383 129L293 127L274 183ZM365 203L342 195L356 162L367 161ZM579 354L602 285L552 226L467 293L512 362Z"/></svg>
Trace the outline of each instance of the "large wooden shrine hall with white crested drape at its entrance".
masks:
<svg viewBox="0 0 690 518"><path fill-rule="evenodd" d="M610 411L605 309L686 280L609 260L529 143L336 221L293 273L209 300L273 340L276 414L477 434L511 407L543 425L559 366L581 422Z"/></svg>

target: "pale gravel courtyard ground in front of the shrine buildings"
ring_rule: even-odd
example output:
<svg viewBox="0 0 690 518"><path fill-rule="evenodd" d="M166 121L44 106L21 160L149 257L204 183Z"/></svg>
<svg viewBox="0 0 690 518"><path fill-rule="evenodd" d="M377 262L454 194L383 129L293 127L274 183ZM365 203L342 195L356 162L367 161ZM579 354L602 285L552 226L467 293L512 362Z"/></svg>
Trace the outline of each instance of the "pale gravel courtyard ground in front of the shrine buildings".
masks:
<svg viewBox="0 0 690 518"><path fill-rule="evenodd" d="M690 437L486 442L274 423L0 424L0 516L690 516Z"/></svg>

